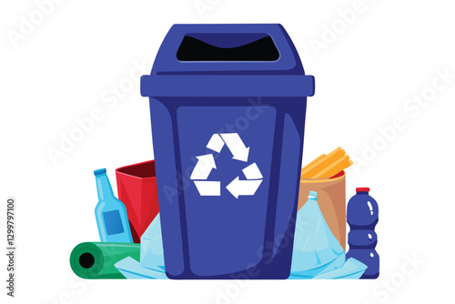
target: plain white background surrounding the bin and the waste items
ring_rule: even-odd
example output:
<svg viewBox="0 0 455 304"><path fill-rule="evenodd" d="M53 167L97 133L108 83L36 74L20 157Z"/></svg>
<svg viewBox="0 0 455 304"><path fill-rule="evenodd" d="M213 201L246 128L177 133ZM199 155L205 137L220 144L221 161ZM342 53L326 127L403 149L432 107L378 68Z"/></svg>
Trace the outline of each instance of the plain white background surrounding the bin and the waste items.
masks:
<svg viewBox="0 0 455 304"><path fill-rule="evenodd" d="M338 11L352 8L353 0L201 2L211 4L202 15L194 0L67 0L43 20L34 1L2 2L0 198L17 198L18 214L17 298L7 298L2 287L2 303L453 301L451 2L365 0L349 25L340 22ZM35 28L13 43L8 35L21 33L21 16L30 15ZM106 167L116 187L116 167L153 157L148 103L138 83L116 105L102 96L127 81L134 62L145 61L149 71L175 23L285 26L317 84L308 98L304 163L339 146L364 159L347 171L347 196L355 187L371 187L379 202L379 279L250 281L238 287L226 280L86 281L73 274L72 248L98 239L93 170ZM326 36L326 48L315 51L311 41L323 43L332 25L339 26L338 34L333 41ZM436 92L432 82L444 69L452 79ZM407 100L422 92L431 99L426 106L406 110ZM96 107L104 117L54 164L48 148L58 149L62 134L68 136L76 119ZM392 126L396 117L405 127L385 142L378 128ZM376 152L366 155L366 145ZM5 207L1 216L5 229Z"/></svg>

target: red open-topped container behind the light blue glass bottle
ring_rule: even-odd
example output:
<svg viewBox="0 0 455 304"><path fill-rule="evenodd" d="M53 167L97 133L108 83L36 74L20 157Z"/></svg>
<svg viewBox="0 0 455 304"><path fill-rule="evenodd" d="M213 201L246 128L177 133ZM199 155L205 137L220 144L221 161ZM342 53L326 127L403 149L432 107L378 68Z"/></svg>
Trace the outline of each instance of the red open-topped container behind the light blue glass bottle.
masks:
<svg viewBox="0 0 455 304"><path fill-rule="evenodd" d="M155 160L117 168L116 186L118 199L126 207L133 241L140 243L159 211Z"/></svg>

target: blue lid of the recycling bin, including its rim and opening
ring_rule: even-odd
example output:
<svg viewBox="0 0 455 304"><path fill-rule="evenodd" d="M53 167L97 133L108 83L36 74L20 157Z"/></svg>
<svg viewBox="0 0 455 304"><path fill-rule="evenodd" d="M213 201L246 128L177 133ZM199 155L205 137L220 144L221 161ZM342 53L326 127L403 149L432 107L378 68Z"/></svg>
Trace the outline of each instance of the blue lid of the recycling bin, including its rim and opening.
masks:
<svg viewBox="0 0 455 304"><path fill-rule="evenodd" d="M279 24L173 25L141 95L313 96L298 52Z"/></svg>

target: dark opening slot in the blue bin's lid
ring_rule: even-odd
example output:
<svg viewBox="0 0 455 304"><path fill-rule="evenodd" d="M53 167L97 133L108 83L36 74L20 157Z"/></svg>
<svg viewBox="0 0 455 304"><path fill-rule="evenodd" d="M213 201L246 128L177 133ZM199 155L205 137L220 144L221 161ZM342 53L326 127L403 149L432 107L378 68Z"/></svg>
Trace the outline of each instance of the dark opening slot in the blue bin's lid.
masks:
<svg viewBox="0 0 455 304"><path fill-rule="evenodd" d="M187 34L179 61L276 61L279 52L267 34Z"/></svg>

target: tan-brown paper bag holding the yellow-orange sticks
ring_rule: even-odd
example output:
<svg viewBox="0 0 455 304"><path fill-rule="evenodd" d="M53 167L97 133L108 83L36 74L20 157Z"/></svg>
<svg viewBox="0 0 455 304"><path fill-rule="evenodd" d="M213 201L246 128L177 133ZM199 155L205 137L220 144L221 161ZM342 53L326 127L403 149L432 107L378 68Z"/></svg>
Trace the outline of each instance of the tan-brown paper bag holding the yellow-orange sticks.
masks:
<svg viewBox="0 0 455 304"><path fill-rule="evenodd" d="M346 251L346 174L324 179L300 179L298 210L308 200L309 191L318 192L318 205L330 231Z"/></svg>

